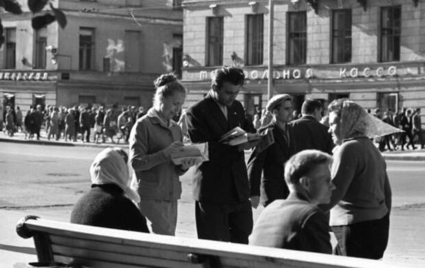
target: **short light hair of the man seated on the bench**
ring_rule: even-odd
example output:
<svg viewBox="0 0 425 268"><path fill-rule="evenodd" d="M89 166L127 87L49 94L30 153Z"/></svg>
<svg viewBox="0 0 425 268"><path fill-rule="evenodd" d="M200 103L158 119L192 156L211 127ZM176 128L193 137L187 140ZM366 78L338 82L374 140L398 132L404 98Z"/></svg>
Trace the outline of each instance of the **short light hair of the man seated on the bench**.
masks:
<svg viewBox="0 0 425 268"><path fill-rule="evenodd" d="M304 150L293 155L285 163L284 180L287 184L298 185L300 179L309 175L318 165L330 165L332 156L319 150Z"/></svg>

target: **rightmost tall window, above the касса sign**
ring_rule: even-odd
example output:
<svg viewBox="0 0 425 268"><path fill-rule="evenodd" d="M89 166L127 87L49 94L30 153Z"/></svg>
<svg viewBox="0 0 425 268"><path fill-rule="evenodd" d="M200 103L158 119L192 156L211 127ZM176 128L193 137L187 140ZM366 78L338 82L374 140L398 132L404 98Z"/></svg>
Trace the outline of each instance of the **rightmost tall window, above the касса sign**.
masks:
<svg viewBox="0 0 425 268"><path fill-rule="evenodd" d="M402 8L385 7L381 10L380 62L400 60L400 32Z"/></svg>

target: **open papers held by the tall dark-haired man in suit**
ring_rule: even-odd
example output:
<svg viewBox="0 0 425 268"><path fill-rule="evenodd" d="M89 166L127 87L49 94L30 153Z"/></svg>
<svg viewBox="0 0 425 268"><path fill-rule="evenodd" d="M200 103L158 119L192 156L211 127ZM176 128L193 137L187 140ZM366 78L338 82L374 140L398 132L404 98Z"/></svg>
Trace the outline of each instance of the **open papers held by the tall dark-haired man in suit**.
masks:
<svg viewBox="0 0 425 268"><path fill-rule="evenodd" d="M261 150L269 147L274 143L274 136L271 132L266 131L265 133L247 133L241 127L234 127L232 130L221 136L220 143L227 145L241 145L243 143L256 143L256 146L260 145Z"/></svg>

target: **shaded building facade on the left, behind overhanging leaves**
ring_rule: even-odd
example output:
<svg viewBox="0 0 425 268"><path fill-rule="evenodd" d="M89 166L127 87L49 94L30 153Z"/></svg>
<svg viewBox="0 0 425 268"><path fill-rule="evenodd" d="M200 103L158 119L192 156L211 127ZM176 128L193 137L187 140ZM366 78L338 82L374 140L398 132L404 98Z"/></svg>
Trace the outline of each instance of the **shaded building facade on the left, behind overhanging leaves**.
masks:
<svg viewBox="0 0 425 268"><path fill-rule="evenodd" d="M1 12L0 106L151 106L154 79L180 71L182 10L172 0L58 0L68 21L34 30ZM180 4L180 3L179 3ZM45 11L49 10L49 5Z"/></svg>

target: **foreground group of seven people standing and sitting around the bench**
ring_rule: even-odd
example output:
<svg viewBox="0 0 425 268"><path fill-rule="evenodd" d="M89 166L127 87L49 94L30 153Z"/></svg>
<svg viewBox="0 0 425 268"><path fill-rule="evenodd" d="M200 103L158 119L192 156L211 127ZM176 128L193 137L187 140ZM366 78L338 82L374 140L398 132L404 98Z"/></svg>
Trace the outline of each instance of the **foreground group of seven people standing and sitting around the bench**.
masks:
<svg viewBox="0 0 425 268"><path fill-rule="evenodd" d="M241 69L215 70L208 94L184 112L184 130L192 143L208 143L209 160L175 164L172 156L184 147L184 131L173 117L186 88L172 74L158 77L154 106L130 131L129 154L119 148L101 151L90 167L92 188L73 208L71 221L174 235L179 176L194 166L199 239L383 258L391 186L370 137L387 134L382 132L387 124L377 124L349 99L329 104L328 125L320 123L325 108L317 99L306 99L300 118L293 120L293 100L280 94L269 100L268 118L256 130L258 117L253 123L236 100L244 80ZM222 143L221 136L234 127L271 132L274 143ZM134 171L131 180L126 164ZM265 208L254 224L252 209L259 204ZM333 249L330 232L337 239Z"/></svg>

